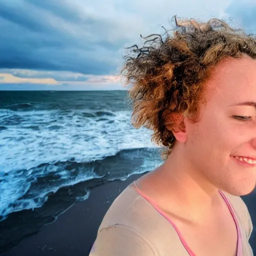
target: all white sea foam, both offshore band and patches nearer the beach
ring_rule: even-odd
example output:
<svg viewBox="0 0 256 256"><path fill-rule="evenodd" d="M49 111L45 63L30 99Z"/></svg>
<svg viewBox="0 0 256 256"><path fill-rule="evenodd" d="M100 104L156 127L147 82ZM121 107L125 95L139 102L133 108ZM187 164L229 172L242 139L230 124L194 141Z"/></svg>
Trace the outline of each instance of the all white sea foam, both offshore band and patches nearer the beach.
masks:
<svg viewBox="0 0 256 256"><path fill-rule="evenodd" d="M16 117L19 120L16 125L3 124L7 129L0 131L0 149L3 152L0 154L0 215L40 207L47 200L47 194L55 192L59 187L99 178L93 170L84 169L79 170L75 178L70 178L72 170L60 170L56 165L35 169L39 164L66 161L71 157L76 162L90 162L115 155L122 149L156 146L150 141L151 131L132 127L130 111L107 110L105 114L104 110L100 111L101 114L96 110L87 110L89 117L86 117L84 109L65 113L61 110L22 112L0 109L0 122ZM26 175L21 172L15 176L15 171L20 169L28 170ZM145 169L146 166L138 167L119 178L125 179ZM30 198L24 196L30 187L31 177L37 178L49 173L60 175L55 186L37 187L35 191L29 190ZM113 179L116 178L113 176ZM21 196L24 198L19 199ZM86 196L88 193L77 197L77 200L86 199Z"/></svg>

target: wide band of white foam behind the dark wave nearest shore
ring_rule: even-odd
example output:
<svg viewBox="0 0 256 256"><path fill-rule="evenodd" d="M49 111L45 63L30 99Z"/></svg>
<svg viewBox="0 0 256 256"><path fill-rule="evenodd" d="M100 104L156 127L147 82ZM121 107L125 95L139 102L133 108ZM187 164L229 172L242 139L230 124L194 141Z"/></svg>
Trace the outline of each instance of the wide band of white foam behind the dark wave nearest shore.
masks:
<svg viewBox="0 0 256 256"><path fill-rule="evenodd" d="M61 111L15 114L22 115L25 121L17 126L5 125L7 129L0 132L1 151L4 152L0 154L0 166L5 172L65 161L70 157L85 162L114 155L121 149L156 146L150 141L149 130L132 127L130 111L94 118L83 117L81 111L67 115L62 115ZM52 125L61 128L51 130Z"/></svg>

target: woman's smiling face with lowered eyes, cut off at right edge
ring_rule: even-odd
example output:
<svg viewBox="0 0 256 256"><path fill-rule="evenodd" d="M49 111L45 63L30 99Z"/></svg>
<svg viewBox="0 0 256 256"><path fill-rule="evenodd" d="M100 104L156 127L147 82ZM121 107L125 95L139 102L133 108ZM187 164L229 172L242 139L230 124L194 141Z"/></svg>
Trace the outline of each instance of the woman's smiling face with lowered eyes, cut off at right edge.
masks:
<svg viewBox="0 0 256 256"><path fill-rule="evenodd" d="M256 182L256 60L218 64L205 95L199 121L185 120L185 154L219 189L248 194Z"/></svg>

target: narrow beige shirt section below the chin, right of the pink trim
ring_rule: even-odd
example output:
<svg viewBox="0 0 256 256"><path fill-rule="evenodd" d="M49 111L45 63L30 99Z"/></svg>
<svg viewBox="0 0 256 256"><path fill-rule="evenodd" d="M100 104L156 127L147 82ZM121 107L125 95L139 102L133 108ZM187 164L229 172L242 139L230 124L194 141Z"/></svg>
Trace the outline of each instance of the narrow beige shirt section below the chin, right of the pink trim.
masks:
<svg viewBox="0 0 256 256"><path fill-rule="evenodd" d="M235 196L227 192L223 192L223 193L231 203L233 211L236 214L236 216L239 218L242 224L242 227L245 230L247 239L249 239L252 232L253 225L252 225L251 217L245 202L242 200L240 196Z"/></svg>

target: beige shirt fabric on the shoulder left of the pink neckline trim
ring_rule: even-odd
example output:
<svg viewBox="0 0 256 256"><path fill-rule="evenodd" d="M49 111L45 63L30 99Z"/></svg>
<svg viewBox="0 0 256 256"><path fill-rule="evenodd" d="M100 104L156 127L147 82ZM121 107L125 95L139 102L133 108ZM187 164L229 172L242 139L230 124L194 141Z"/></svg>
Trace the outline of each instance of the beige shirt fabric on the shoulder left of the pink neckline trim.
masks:
<svg viewBox="0 0 256 256"><path fill-rule="evenodd" d="M121 247L116 248L117 244ZM184 253L174 227L132 185L126 187L109 207L98 228L93 249L105 249L109 254L102 255L111 256ZM129 254L125 254L127 251Z"/></svg>

